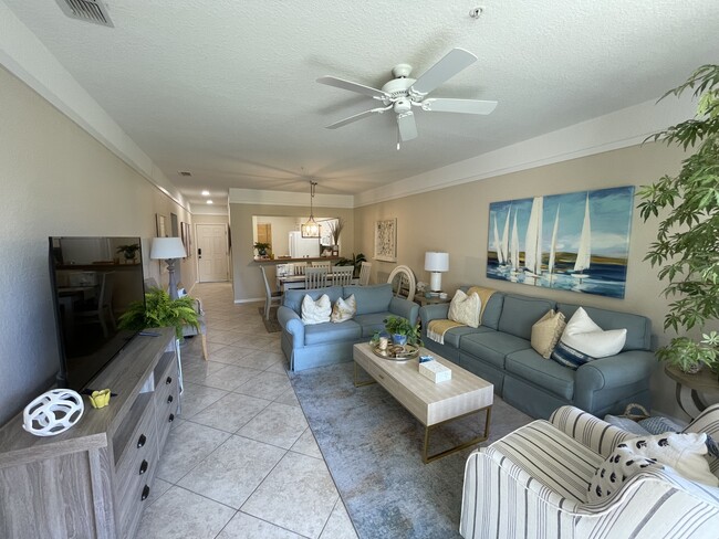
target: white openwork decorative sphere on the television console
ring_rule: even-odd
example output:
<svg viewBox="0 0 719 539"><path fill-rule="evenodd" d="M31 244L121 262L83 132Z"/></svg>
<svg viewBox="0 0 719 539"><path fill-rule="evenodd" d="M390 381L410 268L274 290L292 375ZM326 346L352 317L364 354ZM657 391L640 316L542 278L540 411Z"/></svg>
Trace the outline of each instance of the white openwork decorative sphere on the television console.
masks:
<svg viewBox="0 0 719 539"><path fill-rule="evenodd" d="M71 389L53 389L25 406L22 427L35 436L54 436L80 421L85 405Z"/></svg>

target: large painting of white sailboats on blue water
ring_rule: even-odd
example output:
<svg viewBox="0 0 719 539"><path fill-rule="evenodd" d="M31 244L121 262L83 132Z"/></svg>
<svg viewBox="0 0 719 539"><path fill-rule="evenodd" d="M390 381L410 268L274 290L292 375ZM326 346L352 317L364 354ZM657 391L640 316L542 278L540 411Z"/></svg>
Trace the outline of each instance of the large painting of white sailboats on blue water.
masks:
<svg viewBox="0 0 719 539"><path fill-rule="evenodd" d="M633 186L491 202L487 276L623 298L633 208Z"/></svg>

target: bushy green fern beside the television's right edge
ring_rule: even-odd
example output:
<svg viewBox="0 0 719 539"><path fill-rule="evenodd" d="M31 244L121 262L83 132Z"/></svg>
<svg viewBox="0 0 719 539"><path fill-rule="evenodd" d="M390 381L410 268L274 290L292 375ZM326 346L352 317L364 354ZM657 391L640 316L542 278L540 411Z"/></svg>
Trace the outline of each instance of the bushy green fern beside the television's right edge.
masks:
<svg viewBox="0 0 719 539"><path fill-rule="evenodd" d="M122 329L134 330L174 327L178 339L183 338L183 326L199 328L195 299L190 296L171 299L161 288L150 288L146 292L145 303L131 303L117 319L117 325Z"/></svg>

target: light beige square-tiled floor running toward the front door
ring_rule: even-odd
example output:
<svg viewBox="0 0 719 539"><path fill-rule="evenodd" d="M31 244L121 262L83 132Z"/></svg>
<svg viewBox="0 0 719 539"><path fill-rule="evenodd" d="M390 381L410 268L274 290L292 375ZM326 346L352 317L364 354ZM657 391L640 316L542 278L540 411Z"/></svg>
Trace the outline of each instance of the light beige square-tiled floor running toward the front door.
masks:
<svg viewBox="0 0 719 539"><path fill-rule="evenodd" d="M209 361L180 349L183 413L137 537L350 539L357 535L288 378L280 334L228 283L196 285Z"/></svg>

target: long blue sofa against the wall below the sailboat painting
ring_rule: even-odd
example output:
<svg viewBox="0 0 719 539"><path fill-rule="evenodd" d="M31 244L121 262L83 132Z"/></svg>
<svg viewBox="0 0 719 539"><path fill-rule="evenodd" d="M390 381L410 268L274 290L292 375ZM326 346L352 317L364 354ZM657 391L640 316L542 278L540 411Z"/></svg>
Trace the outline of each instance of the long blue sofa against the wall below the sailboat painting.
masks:
<svg viewBox="0 0 719 539"><path fill-rule="evenodd" d="M461 287L465 292L468 287ZM544 359L532 348L532 325L549 309L569 320L579 305L496 292L478 328L458 327L440 345L427 338L427 324L447 318L449 305L419 309L425 347L494 384L494 392L533 418L546 419L571 404L598 418L622 413L628 403L649 408L649 378L656 364L650 351L652 323L639 315L584 307L604 330L626 328L616 356L596 359L577 370Z"/></svg>

